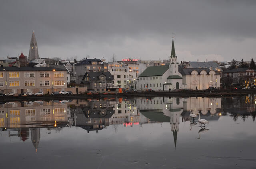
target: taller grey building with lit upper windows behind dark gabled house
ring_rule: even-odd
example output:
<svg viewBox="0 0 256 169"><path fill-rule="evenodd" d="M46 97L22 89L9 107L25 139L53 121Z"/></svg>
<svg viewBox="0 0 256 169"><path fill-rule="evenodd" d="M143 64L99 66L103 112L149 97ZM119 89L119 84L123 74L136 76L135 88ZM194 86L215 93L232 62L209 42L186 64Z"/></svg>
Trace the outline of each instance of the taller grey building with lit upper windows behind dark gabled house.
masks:
<svg viewBox="0 0 256 169"><path fill-rule="evenodd" d="M87 59L87 57L73 65L73 73L75 83L81 83L82 78L86 72L107 72L108 63L104 63L100 59Z"/></svg>

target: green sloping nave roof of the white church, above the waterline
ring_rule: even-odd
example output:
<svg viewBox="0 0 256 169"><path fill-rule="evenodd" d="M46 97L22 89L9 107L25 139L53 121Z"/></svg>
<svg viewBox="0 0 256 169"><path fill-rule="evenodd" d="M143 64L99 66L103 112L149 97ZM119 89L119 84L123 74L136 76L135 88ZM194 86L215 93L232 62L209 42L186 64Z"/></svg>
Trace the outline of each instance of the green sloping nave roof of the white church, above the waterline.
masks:
<svg viewBox="0 0 256 169"><path fill-rule="evenodd" d="M162 76L169 69L169 65L164 66L150 66L140 74L139 77L146 76Z"/></svg>

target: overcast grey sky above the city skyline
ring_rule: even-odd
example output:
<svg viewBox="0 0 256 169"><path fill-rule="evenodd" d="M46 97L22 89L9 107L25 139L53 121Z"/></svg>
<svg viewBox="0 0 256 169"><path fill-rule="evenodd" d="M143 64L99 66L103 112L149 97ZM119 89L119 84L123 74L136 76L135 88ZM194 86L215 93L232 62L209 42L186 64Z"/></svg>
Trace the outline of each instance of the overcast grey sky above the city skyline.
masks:
<svg viewBox="0 0 256 169"><path fill-rule="evenodd" d="M0 57L256 58L255 0L1 0Z"/></svg>

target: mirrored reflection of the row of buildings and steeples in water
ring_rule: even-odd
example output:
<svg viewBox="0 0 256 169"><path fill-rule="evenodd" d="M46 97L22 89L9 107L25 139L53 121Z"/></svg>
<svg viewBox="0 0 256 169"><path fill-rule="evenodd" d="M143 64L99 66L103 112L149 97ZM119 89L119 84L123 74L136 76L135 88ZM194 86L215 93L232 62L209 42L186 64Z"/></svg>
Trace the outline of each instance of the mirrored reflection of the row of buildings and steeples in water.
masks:
<svg viewBox="0 0 256 169"><path fill-rule="evenodd" d="M253 95L242 98L156 97L2 102L0 128L2 133L8 132L9 138L19 137L21 141L26 141L30 137L37 152L42 128L46 128L48 134L66 127L79 127L87 133L98 133L113 126L114 132L118 133L120 126L143 127L150 123L168 122L176 147L180 123L189 122L190 131L199 126L198 117L191 118L190 110L210 123L221 116L231 116L234 121L239 117L245 121L252 116L254 121L255 105L256 97ZM208 131L209 128L200 128L198 139Z"/></svg>

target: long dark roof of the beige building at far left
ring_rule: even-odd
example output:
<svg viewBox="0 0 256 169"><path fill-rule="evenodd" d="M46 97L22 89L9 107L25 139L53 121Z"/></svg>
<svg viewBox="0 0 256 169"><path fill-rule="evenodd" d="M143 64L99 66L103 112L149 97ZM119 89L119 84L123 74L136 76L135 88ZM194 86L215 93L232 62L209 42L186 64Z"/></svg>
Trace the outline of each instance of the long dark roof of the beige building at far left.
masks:
<svg viewBox="0 0 256 169"><path fill-rule="evenodd" d="M66 69L61 69L58 67L0 67L0 71L52 71L55 69L55 71L66 71Z"/></svg>

